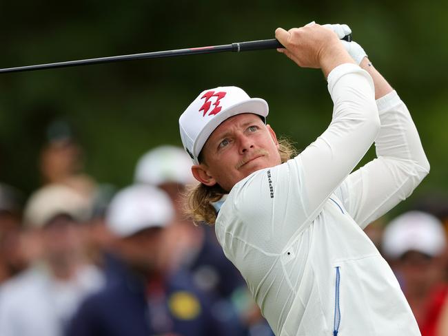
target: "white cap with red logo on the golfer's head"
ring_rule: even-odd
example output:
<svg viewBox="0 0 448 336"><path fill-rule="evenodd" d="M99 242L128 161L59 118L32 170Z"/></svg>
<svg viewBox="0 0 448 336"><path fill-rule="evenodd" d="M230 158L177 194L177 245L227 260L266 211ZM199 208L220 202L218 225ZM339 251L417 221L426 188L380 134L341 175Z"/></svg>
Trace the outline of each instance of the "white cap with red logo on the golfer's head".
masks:
<svg viewBox="0 0 448 336"><path fill-rule="evenodd" d="M179 118L183 147L198 165L198 155L208 137L224 120L237 114L253 113L266 118L269 107L264 99L250 98L235 86L205 90Z"/></svg>

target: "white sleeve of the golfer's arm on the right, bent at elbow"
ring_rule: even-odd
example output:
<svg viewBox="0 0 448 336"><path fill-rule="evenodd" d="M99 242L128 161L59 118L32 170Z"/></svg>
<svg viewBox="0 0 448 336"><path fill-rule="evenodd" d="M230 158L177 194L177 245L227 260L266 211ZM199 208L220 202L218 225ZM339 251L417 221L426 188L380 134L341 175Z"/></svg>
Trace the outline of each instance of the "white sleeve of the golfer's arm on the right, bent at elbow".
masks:
<svg viewBox="0 0 448 336"><path fill-rule="evenodd" d="M376 101L380 132L375 160L354 171L335 191L364 229L405 200L429 173L429 162L411 115L393 91Z"/></svg>

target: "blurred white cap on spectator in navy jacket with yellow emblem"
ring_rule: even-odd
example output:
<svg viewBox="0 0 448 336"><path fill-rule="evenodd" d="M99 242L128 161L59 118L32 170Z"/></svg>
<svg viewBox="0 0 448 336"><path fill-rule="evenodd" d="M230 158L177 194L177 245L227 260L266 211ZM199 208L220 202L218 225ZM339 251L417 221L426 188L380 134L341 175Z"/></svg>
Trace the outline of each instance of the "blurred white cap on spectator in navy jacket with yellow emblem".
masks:
<svg viewBox="0 0 448 336"><path fill-rule="evenodd" d="M151 227L165 227L173 218L170 197L150 185L133 185L119 191L106 213L110 231L122 238Z"/></svg>

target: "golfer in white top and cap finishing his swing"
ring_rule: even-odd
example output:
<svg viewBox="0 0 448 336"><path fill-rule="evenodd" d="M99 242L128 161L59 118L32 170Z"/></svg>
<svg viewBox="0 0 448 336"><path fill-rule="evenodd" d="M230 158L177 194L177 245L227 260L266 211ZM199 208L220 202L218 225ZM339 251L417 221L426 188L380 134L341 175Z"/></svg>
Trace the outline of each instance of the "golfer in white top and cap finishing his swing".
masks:
<svg viewBox="0 0 448 336"><path fill-rule="evenodd" d="M278 51L320 68L334 103L329 127L298 156L265 124L263 99L217 87L193 101L179 119L201 182L188 204L196 222L215 224L276 335L420 335L363 229L407 198L429 163L407 107L363 48L339 40L345 30L276 30ZM372 143L377 158L353 171Z"/></svg>

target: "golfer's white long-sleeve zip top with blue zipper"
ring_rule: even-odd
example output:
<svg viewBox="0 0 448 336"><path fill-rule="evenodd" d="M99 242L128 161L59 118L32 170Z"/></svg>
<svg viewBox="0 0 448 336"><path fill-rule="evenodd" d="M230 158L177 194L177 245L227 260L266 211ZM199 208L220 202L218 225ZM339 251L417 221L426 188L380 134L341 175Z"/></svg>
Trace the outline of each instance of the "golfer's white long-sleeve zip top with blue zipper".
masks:
<svg viewBox="0 0 448 336"><path fill-rule="evenodd" d="M374 100L357 65L332 70L328 89L329 127L296 158L232 188L218 241L276 335L420 335L362 230L428 173L416 127L396 92ZM350 174L374 140L378 158Z"/></svg>

